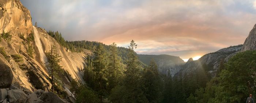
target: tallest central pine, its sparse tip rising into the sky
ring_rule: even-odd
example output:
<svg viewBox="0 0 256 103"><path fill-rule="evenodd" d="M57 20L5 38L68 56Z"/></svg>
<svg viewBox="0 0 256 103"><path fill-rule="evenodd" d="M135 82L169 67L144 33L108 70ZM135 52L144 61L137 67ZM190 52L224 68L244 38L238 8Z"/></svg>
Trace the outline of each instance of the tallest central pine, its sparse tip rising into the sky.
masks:
<svg viewBox="0 0 256 103"><path fill-rule="evenodd" d="M135 102L147 102L146 96L142 91L142 84L140 78L140 69L138 67L139 60L134 52L137 48L136 43L132 40L129 46L129 53L127 55L127 67L125 71L124 86L126 88L126 101Z"/></svg>

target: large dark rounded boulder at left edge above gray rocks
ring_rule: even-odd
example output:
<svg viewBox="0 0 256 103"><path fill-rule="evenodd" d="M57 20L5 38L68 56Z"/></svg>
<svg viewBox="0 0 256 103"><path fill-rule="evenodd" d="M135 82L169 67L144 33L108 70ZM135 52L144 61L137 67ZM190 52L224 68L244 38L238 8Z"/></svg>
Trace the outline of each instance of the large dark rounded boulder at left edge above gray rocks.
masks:
<svg viewBox="0 0 256 103"><path fill-rule="evenodd" d="M13 79L11 68L3 62L0 62L0 71L0 88L9 88Z"/></svg>

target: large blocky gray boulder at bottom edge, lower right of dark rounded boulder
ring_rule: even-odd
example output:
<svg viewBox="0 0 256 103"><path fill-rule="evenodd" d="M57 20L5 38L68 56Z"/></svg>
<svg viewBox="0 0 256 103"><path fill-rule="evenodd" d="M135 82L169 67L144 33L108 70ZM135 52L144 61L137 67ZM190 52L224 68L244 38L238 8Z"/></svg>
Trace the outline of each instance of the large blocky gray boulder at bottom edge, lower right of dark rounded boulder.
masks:
<svg viewBox="0 0 256 103"><path fill-rule="evenodd" d="M28 96L21 90L9 90L8 99L11 103L26 103Z"/></svg>

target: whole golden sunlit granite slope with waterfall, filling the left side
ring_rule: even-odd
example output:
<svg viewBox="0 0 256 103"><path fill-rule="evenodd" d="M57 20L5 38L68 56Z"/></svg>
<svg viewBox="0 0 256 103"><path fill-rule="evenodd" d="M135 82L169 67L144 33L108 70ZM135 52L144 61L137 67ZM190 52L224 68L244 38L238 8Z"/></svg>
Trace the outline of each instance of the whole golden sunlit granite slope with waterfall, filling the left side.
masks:
<svg viewBox="0 0 256 103"><path fill-rule="evenodd" d="M19 0L0 0L0 33L3 31L12 37L11 41L0 38L0 71L3 71L0 72L0 88L13 85L30 92L37 89L48 91L52 84L45 67L45 53L50 51L51 45L56 47L55 53L62 58L60 65L65 73L61 75L61 81L65 83L65 90L69 92L71 79L84 83L81 70L84 68L84 58L91 52L66 51L44 29L32 26L30 12ZM29 37L34 40L29 42ZM33 49L32 55L28 53L29 47ZM20 55L20 61L16 61L15 55Z"/></svg>

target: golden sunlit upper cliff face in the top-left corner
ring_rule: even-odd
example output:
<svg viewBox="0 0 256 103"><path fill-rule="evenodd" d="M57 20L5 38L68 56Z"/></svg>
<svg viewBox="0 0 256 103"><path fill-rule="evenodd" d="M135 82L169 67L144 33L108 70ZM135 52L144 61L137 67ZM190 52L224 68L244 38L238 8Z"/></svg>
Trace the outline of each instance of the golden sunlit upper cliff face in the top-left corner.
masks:
<svg viewBox="0 0 256 103"><path fill-rule="evenodd" d="M12 30L30 33L32 21L29 10L20 0L0 0L0 33Z"/></svg>

